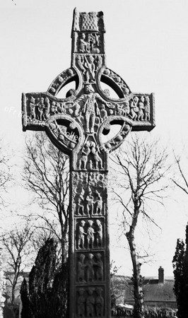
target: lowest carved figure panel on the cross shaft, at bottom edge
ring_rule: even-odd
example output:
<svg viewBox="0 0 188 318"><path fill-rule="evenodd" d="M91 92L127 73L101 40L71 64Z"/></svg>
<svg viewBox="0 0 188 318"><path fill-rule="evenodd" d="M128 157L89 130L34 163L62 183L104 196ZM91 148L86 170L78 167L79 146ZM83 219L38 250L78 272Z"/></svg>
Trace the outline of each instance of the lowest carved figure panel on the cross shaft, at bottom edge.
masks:
<svg viewBox="0 0 188 318"><path fill-rule="evenodd" d="M103 317L104 288L100 286L78 288L77 293L77 317Z"/></svg>

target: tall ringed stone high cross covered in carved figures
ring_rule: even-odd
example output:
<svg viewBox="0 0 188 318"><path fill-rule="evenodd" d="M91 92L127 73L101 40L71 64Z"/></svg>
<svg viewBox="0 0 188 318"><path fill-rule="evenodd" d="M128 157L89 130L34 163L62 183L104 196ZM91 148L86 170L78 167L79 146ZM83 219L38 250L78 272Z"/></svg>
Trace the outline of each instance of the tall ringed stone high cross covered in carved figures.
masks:
<svg viewBox="0 0 188 318"><path fill-rule="evenodd" d="M110 314L109 153L129 131L151 131L152 94L131 93L124 80L106 65L102 12L74 10L71 67L52 81L45 93L23 93L23 131L46 131L70 157L69 318ZM67 83L76 89L57 98ZM102 90L106 83L110 90ZM112 126L119 132L107 140Z"/></svg>

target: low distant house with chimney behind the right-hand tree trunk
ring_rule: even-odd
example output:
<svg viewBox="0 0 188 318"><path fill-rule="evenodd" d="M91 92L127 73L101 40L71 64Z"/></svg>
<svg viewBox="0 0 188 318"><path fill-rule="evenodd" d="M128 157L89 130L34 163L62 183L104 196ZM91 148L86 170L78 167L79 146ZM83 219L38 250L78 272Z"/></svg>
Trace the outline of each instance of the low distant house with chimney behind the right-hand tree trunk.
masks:
<svg viewBox="0 0 188 318"><path fill-rule="evenodd" d="M133 286L127 276L115 276L113 283L116 288L117 304L134 305ZM165 278L164 269L160 266L158 277L145 277L143 279L143 295L146 307L177 308L175 294L173 293L174 278ZM121 293L120 290L121 289ZM123 289L123 290L122 290Z"/></svg>

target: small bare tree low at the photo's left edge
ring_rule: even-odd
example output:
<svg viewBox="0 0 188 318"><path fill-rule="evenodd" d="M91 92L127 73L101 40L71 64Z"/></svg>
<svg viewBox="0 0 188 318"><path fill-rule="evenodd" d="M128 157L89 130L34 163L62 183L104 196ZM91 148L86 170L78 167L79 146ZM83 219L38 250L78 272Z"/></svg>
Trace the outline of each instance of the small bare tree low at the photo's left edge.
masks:
<svg viewBox="0 0 188 318"><path fill-rule="evenodd" d="M14 228L0 237L1 247L6 255L4 268L6 279L11 283L11 303L15 301L18 277L30 263L33 247L31 237L33 232L28 225L22 229Z"/></svg>

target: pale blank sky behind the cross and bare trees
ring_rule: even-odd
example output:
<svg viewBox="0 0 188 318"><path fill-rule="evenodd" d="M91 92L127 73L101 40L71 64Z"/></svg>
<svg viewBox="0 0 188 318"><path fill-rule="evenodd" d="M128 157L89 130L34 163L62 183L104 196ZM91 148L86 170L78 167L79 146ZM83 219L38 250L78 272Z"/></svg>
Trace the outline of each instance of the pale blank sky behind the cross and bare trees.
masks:
<svg viewBox="0 0 188 318"><path fill-rule="evenodd" d="M187 142L188 117L186 0L0 0L1 136L16 152L22 151L29 133L22 132L21 93L47 90L70 66L75 7L104 12L107 66L131 91L155 93L156 127L151 134L180 151ZM161 265L172 276L176 240L184 238L187 223L187 199L175 191L163 216L159 211L163 232L153 245L156 261L143 265L143 275L157 275ZM111 254L122 265L119 273L131 274L129 254L114 245Z"/></svg>

